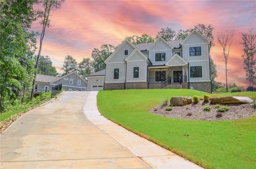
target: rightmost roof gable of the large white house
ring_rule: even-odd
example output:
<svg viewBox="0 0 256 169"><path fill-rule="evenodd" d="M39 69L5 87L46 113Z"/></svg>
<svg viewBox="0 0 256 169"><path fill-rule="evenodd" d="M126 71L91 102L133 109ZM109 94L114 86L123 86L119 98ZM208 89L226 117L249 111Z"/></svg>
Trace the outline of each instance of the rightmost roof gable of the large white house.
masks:
<svg viewBox="0 0 256 169"><path fill-rule="evenodd" d="M210 41L201 35L197 30L193 30L180 44L202 44L202 43L210 43Z"/></svg>

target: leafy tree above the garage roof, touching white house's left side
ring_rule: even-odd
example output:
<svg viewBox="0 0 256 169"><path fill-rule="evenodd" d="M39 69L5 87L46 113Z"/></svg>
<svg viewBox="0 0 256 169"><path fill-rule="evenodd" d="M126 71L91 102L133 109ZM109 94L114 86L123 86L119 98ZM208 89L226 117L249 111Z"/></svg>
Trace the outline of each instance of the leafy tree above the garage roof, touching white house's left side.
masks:
<svg viewBox="0 0 256 169"><path fill-rule="evenodd" d="M91 57L93 59L92 68L94 72L106 68L106 64L104 63L104 61L109 57L112 52L115 51L115 49L116 47L110 44L103 44L100 46L100 49L93 49Z"/></svg>

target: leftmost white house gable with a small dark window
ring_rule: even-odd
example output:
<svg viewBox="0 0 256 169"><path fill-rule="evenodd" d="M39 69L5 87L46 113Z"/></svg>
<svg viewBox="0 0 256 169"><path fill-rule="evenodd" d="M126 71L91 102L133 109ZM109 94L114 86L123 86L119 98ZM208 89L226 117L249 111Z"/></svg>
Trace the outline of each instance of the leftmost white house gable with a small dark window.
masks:
<svg viewBox="0 0 256 169"><path fill-rule="evenodd" d="M111 62L123 62L124 59L132 53L132 51L135 49L135 46L131 44L127 39L117 47L117 49L110 54L110 56L105 60L105 63L111 63ZM128 54L125 55L124 51L128 50Z"/></svg>

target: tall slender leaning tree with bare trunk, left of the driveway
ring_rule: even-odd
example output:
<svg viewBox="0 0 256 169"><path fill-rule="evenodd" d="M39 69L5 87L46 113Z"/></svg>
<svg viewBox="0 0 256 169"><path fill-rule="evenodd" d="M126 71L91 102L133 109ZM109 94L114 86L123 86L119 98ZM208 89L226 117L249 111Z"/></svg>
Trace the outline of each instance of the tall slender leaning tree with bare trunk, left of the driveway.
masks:
<svg viewBox="0 0 256 169"><path fill-rule="evenodd" d="M43 29L40 36L39 50L36 58L36 65L35 65L36 69L38 68L38 61L42 51L45 29L46 27L50 27L49 16L53 11L60 9L60 6L63 2L65 2L65 0L43 0L42 3L43 3L44 11L38 11L39 17L43 18L43 20L40 22L41 25L43 26ZM35 83L36 83L36 72L33 80L33 85L32 85L33 87L31 90L30 100L33 99Z"/></svg>

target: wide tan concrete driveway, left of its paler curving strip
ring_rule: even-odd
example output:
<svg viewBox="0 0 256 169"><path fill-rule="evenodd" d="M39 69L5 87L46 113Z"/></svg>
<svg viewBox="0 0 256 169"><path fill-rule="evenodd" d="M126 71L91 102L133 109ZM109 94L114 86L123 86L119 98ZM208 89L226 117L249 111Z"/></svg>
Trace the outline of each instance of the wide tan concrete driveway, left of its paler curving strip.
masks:
<svg viewBox="0 0 256 169"><path fill-rule="evenodd" d="M83 114L89 92L64 92L1 134L0 168L150 168Z"/></svg>

